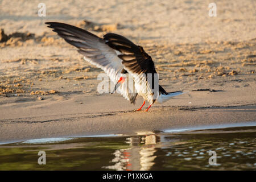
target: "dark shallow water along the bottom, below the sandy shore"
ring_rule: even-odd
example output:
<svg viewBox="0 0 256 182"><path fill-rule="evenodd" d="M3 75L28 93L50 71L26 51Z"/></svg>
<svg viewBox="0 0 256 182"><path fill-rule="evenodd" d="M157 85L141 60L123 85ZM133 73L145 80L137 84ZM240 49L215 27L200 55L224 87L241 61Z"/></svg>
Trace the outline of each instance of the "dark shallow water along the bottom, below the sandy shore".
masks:
<svg viewBox="0 0 256 182"><path fill-rule="evenodd" d="M256 122L0 145L0 170L255 170ZM46 152L46 165L38 152ZM210 165L209 151L217 164Z"/></svg>

